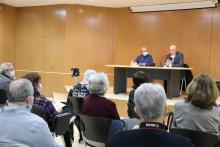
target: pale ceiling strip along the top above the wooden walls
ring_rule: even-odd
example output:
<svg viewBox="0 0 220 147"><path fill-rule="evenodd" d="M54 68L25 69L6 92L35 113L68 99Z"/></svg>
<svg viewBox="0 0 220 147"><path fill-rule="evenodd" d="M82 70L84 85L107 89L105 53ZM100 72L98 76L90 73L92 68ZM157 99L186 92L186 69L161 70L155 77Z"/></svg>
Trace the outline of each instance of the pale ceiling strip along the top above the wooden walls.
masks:
<svg viewBox="0 0 220 147"><path fill-rule="evenodd" d="M206 0L0 0L0 3L15 6L42 6L53 4L80 4L99 7L129 7L129 6L143 6L152 4L166 4L166 3L180 3L192 1L206 1Z"/></svg>

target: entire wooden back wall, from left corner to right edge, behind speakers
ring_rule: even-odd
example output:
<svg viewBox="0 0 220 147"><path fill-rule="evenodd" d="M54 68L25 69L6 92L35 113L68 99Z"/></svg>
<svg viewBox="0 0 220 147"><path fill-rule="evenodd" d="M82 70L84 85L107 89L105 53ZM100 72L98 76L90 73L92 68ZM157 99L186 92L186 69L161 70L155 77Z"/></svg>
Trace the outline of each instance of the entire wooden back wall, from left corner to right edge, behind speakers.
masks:
<svg viewBox="0 0 220 147"><path fill-rule="evenodd" d="M141 46L149 48L159 65L169 45L176 44L194 74L220 79L219 5L150 13L79 5L17 8L16 12L16 69L40 71L47 95L65 92L64 85L72 84L65 74L71 67L104 71L112 85L113 70L105 65L130 64Z"/></svg>

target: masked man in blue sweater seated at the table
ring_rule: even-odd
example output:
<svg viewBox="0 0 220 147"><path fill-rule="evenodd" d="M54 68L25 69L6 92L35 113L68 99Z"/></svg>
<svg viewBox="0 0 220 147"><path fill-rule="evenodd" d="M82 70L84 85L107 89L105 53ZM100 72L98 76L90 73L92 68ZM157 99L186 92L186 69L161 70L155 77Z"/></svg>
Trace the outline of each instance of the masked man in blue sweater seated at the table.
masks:
<svg viewBox="0 0 220 147"><path fill-rule="evenodd" d="M139 66L153 66L153 57L148 53L146 47L141 48L141 55L135 59Z"/></svg>

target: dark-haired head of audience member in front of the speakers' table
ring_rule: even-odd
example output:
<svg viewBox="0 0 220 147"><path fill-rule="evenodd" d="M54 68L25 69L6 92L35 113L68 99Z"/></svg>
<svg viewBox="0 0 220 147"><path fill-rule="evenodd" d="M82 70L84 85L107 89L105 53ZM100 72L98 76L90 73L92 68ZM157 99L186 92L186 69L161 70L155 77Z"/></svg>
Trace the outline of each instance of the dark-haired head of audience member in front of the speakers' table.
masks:
<svg viewBox="0 0 220 147"><path fill-rule="evenodd" d="M149 79L145 72L138 71L133 76L133 88L136 89L138 86L140 86L143 83L148 83Z"/></svg>

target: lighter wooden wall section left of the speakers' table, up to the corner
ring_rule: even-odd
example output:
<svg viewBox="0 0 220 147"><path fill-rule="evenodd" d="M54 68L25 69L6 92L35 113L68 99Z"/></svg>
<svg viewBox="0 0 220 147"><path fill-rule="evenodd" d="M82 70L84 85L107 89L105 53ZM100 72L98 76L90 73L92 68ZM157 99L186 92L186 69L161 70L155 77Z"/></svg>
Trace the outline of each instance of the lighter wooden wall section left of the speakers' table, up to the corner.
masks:
<svg viewBox="0 0 220 147"><path fill-rule="evenodd" d="M72 84L71 75L63 74L72 67L104 71L112 79L105 64L113 63L114 12L75 5L17 8L16 69L39 71L49 96Z"/></svg>

